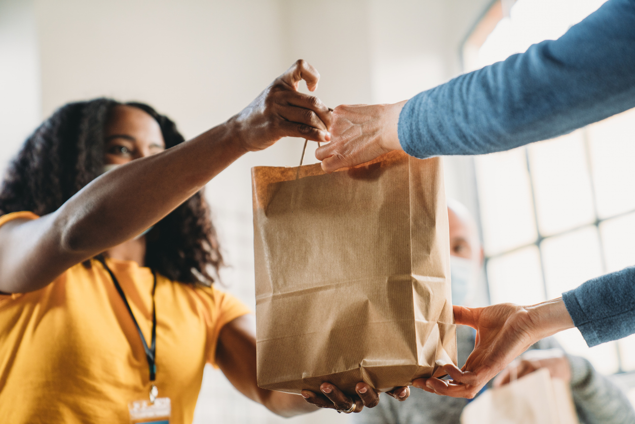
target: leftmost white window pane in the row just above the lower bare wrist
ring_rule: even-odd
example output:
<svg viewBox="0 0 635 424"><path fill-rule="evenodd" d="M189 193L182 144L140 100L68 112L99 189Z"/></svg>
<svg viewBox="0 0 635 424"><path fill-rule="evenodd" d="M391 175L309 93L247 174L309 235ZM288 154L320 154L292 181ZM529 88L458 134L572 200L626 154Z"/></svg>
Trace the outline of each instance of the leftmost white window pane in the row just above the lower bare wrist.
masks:
<svg viewBox="0 0 635 424"><path fill-rule="evenodd" d="M540 253L535 246L490 259L487 278L491 303L534 304L545 300Z"/></svg>

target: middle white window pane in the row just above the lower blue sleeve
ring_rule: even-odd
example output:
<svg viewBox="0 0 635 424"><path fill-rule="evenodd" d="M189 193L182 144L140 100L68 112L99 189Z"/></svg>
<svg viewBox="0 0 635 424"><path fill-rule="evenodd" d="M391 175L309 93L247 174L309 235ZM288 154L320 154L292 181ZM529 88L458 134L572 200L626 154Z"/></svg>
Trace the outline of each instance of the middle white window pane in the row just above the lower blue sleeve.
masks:
<svg viewBox="0 0 635 424"><path fill-rule="evenodd" d="M588 226L571 233L545 239L540 246L547 280L547 296L565 291L602 273L598 231Z"/></svg>

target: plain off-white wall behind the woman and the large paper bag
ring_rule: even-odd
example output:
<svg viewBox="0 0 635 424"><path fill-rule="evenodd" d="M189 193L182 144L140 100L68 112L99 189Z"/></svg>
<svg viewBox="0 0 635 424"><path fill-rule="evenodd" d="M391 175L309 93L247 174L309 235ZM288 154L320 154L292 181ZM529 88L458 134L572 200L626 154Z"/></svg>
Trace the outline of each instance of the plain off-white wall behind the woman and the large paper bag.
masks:
<svg viewBox="0 0 635 424"><path fill-rule="evenodd" d="M0 119L10 117L12 128L0 125L0 166L1 154L13 154L57 107L102 95L148 102L192 137L246 106L297 58L321 72L317 95L331 107L406 99L460 72L460 42L489 2L0 0L0 72L22 81L5 97L0 78ZM13 106L21 99L28 107ZM314 148L305 162L315 161ZM297 165L301 150L302 140L281 140L208 184L230 264L222 277L252 307L250 167ZM465 158L446 160L446 188L476 211L470 167ZM210 420L280 421L207 370L195 422ZM345 416L322 411L284 422L323 420Z"/></svg>

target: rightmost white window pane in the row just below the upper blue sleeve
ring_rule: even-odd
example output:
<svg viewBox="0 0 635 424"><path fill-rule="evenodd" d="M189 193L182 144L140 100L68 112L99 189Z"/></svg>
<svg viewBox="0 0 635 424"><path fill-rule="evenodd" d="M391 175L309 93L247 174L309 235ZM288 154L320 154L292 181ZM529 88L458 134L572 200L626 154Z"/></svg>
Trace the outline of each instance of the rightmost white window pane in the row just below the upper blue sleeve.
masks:
<svg viewBox="0 0 635 424"><path fill-rule="evenodd" d="M635 109L587 127L598 213L601 217L635 209Z"/></svg>

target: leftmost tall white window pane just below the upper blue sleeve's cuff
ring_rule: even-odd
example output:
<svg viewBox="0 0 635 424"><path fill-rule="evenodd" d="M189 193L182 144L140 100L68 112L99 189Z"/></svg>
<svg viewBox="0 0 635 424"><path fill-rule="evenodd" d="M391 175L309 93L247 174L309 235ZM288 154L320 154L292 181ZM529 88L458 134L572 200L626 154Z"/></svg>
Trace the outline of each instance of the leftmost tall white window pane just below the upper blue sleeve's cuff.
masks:
<svg viewBox="0 0 635 424"><path fill-rule="evenodd" d="M488 256L533 243L537 238L525 157L521 148L475 160Z"/></svg>

